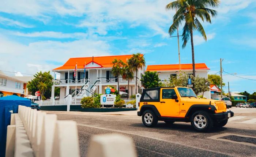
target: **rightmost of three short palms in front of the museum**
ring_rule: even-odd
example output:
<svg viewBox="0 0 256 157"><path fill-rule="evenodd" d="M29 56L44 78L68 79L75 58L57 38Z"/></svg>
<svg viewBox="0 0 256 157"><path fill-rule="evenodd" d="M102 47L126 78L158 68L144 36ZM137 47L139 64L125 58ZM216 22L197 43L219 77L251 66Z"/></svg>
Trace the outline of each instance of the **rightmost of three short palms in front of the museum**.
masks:
<svg viewBox="0 0 256 157"><path fill-rule="evenodd" d="M146 62L141 53L133 54L132 57L128 60L128 64L131 68L136 71L136 79L135 79L135 94L137 93L137 80L138 80L138 69L145 66Z"/></svg>

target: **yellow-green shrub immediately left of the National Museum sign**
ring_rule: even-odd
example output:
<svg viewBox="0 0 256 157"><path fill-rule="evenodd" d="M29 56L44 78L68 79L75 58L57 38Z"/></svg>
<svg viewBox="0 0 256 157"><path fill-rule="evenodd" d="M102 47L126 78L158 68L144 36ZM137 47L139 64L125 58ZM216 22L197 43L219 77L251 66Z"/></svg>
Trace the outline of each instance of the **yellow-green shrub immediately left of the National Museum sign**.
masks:
<svg viewBox="0 0 256 157"><path fill-rule="evenodd" d="M100 96L97 97L84 97L81 100L81 107L82 108L100 108L101 103L98 101L100 100Z"/></svg>

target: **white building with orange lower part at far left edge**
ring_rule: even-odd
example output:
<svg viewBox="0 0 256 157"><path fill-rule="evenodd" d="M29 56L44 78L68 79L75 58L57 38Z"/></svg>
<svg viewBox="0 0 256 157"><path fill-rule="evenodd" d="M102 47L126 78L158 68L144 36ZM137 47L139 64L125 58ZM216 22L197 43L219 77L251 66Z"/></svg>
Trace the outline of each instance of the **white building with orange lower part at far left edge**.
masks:
<svg viewBox="0 0 256 157"><path fill-rule="evenodd" d="M17 95L24 97L26 82L0 72L0 97Z"/></svg>

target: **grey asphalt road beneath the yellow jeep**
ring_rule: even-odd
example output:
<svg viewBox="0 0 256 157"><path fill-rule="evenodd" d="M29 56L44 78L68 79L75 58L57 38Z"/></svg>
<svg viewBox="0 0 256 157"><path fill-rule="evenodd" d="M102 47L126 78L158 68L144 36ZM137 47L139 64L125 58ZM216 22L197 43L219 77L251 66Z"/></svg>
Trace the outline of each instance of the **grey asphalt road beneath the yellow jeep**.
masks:
<svg viewBox="0 0 256 157"><path fill-rule="evenodd" d="M133 139L139 157L221 157L254 156L256 145L249 146L209 137L223 134L256 136L256 108L232 108L232 117L226 126L209 133L193 130L190 123L172 125L159 121L156 128L146 128L136 112L83 113L55 112L59 120L74 120L78 124L80 155L86 156L90 137L94 134L119 133Z"/></svg>

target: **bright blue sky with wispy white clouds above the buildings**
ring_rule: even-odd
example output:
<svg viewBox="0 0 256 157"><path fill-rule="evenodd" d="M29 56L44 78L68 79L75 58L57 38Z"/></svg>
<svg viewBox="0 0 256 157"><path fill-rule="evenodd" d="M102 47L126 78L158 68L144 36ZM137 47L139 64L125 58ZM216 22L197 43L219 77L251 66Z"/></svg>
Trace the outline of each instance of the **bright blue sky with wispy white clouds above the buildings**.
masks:
<svg viewBox="0 0 256 157"><path fill-rule="evenodd" d="M177 64L177 38L167 33L174 15L165 10L169 2L4 1L0 5L0 70L34 74L56 68L70 57L137 52L145 54L147 65ZM206 63L214 74L223 58L224 71L256 80L255 0L222 0L216 10L212 24L203 24L207 42L195 33L195 62ZM181 49L181 63L192 63L190 43ZM256 81L239 77L223 76L231 91L256 92Z"/></svg>

